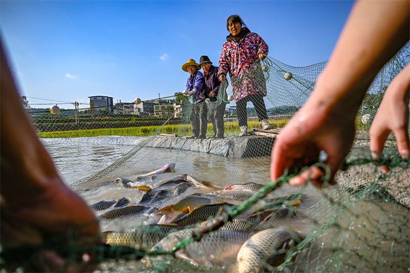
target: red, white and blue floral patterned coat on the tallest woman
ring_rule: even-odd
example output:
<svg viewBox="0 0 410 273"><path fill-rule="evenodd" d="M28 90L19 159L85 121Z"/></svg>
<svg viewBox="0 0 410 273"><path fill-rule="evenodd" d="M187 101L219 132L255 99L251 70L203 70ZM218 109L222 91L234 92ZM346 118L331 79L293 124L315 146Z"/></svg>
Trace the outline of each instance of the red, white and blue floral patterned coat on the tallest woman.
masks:
<svg viewBox="0 0 410 273"><path fill-rule="evenodd" d="M267 95L266 81L260 65L255 65L260 53L268 54L269 48L258 34L242 28L237 39L227 36L219 57L218 77L221 74L231 77L235 102L249 94Z"/></svg>

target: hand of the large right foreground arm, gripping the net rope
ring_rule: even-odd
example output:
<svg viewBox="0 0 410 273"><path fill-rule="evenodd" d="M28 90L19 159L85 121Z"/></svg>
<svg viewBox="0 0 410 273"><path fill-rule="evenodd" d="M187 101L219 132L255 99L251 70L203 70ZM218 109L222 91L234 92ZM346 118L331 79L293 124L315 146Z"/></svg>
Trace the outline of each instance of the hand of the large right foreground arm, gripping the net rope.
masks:
<svg viewBox="0 0 410 273"><path fill-rule="evenodd" d="M319 101L320 102L320 101ZM343 106L340 106L343 109ZM319 162L319 153L327 154L330 184L350 151L355 136L355 115L343 116L336 107L327 110L322 104L306 105L286 124L276 139L272 150L271 179L280 177L286 169L298 172L304 166ZM326 174L329 175L329 174ZM319 167L310 167L289 180L291 185L303 185L311 181L321 187L323 172Z"/></svg>

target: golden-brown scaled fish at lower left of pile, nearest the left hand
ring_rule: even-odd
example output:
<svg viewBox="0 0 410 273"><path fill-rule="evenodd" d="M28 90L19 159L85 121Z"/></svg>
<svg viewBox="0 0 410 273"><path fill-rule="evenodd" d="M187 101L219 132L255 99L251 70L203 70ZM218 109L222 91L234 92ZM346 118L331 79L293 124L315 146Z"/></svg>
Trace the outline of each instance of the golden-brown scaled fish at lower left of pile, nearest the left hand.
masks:
<svg viewBox="0 0 410 273"><path fill-rule="evenodd" d="M106 243L113 246L128 246L137 250L150 250L168 234L185 228L176 225L141 225L127 232L106 232Z"/></svg>

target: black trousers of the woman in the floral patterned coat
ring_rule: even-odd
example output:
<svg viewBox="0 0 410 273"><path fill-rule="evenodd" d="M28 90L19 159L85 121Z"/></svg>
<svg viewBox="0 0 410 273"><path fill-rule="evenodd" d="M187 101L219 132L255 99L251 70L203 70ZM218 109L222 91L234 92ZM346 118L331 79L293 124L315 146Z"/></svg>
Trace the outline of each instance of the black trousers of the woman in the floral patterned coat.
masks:
<svg viewBox="0 0 410 273"><path fill-rule="evenodd" d="M238 115L239 127L248 126L248 101L251 101L253 103L259 121L268 119L268 114L266 113L266 106L265 101L263 100L263 95L250 94L236 102L236 113Z"/></svg>

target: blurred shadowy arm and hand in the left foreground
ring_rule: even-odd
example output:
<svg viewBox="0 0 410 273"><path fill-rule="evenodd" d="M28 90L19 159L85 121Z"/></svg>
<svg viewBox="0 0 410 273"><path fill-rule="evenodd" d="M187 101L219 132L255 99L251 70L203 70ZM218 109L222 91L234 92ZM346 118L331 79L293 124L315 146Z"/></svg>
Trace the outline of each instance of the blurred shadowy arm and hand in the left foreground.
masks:
<svg viewBox="0 0 410 273"><path fill-rule="evenodd" d="M3 199L0 232L3 250L46 242L57 248L56 242L63 244L69 238L85 245L98 241L98 221L93 212L61 181L52 159L31 127L3 45L0 93L0 192ZM70 237L74 234L75 237ZM47 270L70 270L57 255L45 255L48 258L42 253L39 257L45 259L49 266Z"/></svg>

